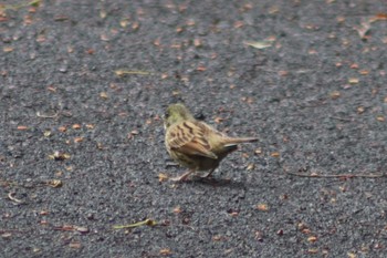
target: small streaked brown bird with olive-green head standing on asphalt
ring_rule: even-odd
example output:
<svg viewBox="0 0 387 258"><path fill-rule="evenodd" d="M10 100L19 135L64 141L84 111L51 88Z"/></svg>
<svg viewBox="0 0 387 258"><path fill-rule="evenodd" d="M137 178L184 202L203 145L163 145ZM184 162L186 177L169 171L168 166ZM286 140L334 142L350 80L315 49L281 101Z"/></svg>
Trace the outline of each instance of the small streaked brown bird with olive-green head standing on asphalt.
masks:
<svg viewBox="0 0 387 258"><path fill-rule="evenodd" d="M238 148L239 143L257 142L254 137L229 137L210 125L197 121L182 104L170 105L165 114L165 145L171 158L189 171L172 180L186 180L197 171L210 171Z"/></svg>

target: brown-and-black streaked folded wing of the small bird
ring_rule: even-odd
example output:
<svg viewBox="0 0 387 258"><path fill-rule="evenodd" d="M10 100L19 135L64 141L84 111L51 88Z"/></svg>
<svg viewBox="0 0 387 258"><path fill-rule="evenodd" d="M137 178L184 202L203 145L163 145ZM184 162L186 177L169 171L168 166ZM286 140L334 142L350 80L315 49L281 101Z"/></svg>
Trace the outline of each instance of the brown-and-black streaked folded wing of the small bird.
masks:
<svg viewBox="0 0 387 258"><path fill-rule="evenodd" d="M168 145L171 149L187 154L217 159L208 142L207 128L200 122L185 121L168 130Z"/></svg>

